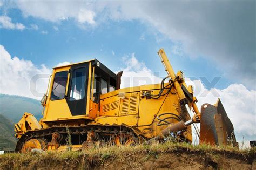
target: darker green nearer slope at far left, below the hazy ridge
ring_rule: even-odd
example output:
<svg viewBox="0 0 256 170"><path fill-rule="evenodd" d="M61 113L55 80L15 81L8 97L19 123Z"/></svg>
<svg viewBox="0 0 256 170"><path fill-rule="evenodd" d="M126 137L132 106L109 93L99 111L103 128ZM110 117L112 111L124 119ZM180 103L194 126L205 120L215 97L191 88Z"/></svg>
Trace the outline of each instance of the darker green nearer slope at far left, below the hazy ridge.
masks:
<svg viewBox="0 0 256 170"><path fill-rule="evenodd" d="M0 114L0 151L14 150L16 142L14 123Z"/></svg>

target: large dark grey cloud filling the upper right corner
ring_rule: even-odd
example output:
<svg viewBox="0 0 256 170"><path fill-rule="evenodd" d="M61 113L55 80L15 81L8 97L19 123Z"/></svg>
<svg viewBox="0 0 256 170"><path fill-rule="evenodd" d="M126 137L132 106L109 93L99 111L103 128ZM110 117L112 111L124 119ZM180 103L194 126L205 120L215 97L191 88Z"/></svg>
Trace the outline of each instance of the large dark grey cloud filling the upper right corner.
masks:
<svg viewBox="0 0 256 170"><path fill-rule="evenodd" d="M180 46L179 51L173 48L178 54L212 60L226 77L255 89L254 1L139 1L106 6L111 19L148 22Z"/></svg>

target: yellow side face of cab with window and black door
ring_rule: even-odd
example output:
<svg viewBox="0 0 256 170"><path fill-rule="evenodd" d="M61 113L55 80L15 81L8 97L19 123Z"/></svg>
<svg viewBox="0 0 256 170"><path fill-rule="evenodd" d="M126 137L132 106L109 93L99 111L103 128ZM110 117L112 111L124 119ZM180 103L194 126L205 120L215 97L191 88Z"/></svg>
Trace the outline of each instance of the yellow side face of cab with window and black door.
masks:
<svg viewBox="0 0 256 170"><path fill-rule="evenodd" d="M44 121L87 115L89 69L89 63L80 63L53 70Z"/></svg>

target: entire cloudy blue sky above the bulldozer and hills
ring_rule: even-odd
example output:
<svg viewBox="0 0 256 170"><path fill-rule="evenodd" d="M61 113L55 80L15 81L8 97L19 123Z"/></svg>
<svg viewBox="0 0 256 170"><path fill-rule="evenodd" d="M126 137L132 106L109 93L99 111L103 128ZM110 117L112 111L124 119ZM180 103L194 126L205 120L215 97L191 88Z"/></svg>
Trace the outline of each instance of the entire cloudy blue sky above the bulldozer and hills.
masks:
<svg viewBox="0 0 256 170"><path fill-rule="evenodd" d="M158 83L163 47L199 107L220 97L239 139L256 139L255 1L0 0L0 44L0 92L36 99L53 66L93 58L124 70L122 87Z"/></svg>

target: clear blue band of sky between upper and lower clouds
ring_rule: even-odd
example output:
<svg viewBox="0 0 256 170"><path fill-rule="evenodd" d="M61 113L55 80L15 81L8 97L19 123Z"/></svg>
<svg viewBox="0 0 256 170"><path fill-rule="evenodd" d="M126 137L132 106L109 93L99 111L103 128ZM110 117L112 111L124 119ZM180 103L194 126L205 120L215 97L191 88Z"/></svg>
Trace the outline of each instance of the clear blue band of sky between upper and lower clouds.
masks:
<svg viewBox="0 0 256 170"><path fill-rule="evenodd" d="M8 10L8 17L13 23L23 23L28 28L1 29L0 43L12 56L31 60L36 65L45 64L53 67L60 62L80 62L97 58L111 70L118 71L124 67L120 63L121 58L135 53L138 60L164 77L165 71L157 55L159 48L164 47L174 70L183 70L187 77L205 77L210 82L214 77L221 77L214 86L221 89L234 83L234 80L225 77L223 70L210 59L199 55L191 58L185 53L173 53L173 46L176 44L156 28L139 19L109 21L81 28L73 18L54 23L31 16L23 17L19 9ZM32 29L32 24L37 25L38 29ZM43 31L45 33L42 33Z"/></svg>

